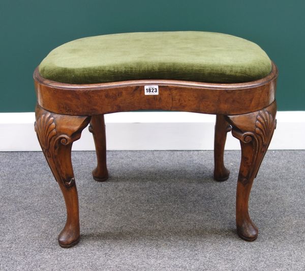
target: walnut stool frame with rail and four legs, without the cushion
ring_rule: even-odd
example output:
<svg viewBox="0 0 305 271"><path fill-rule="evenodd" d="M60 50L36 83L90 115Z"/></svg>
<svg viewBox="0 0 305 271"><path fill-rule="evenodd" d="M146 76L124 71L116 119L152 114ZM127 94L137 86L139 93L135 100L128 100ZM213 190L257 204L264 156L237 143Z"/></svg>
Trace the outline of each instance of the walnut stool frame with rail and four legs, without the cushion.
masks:
<svg viewBox="0 0 305 271"><path fill-rule="evenodd" d="M37 94L35 130L51 171L63 192L67 222L59 245L79 241L78 196L71 163L71 148L90 123L98 165L94 179L108 178L104 114L132 110L173 110L216 114L215 170L217 181L229 178L224 166L226 134L240 141L241 163L236 191L236 227L243 240L254 241L258 229L248 212L254 178L276 127L278 70L263 79L237 84L212 84L176 80L136 80L101 84L65 84L34 72ZM144 95L144 85L159 85L159 95Z"/></svg>

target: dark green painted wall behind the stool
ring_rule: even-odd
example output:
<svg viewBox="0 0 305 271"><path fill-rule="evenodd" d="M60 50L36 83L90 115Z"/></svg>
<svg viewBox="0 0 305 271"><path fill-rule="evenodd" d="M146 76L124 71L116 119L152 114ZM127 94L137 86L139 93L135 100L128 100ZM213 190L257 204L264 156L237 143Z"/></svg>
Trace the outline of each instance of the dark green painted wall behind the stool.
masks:
<svg viewBox="0 0 305 271"><path fill-rule="evenodd" d="M279 110L305 110L304 11L304 0L1 0L0 112L34 111L32 73L56 46L164 30L224 32L258 43L279 67Z"/></svg>

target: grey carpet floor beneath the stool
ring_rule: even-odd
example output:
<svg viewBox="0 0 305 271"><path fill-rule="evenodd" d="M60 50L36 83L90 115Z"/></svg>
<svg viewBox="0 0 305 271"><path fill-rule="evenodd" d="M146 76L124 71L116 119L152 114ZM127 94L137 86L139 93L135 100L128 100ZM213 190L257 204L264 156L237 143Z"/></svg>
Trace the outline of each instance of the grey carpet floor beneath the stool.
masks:
<svg viewBox="0 0 305 271"><path fill-rule="evenodd" d="M0 153L0 270L305 270L305 151L267 152L252 243L235 233L238 151L224 183L211 151L108 152L105 183L90 175L94 152L72 158L81 240L62 249L64 200L42 153Z"/></svg>

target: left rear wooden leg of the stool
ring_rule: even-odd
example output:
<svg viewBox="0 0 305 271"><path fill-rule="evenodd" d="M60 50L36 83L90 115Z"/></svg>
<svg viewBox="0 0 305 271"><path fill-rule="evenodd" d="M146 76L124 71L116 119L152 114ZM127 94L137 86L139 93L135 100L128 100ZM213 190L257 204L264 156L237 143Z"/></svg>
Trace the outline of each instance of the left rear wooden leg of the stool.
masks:
<svg viewBox="0 0 305 271"><path fill-rule="evenodd" d="M92 172L93 178L98 182L104 182L108 179L108 170L106 163L106 131L104 115L92 116L89 131L93 134L96 146L98 164Z"/></svg>

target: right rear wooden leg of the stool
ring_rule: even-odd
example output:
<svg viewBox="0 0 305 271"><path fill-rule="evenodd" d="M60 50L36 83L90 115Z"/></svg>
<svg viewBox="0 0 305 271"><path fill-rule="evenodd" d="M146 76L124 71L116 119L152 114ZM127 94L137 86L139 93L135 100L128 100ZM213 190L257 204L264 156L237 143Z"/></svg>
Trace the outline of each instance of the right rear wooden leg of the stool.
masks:
<svg viewBox="0 0 305 271"><path fill-rule="evenodd" d="M215 136L214 136L214 179L219 182L228 180L230 171L224 164L224 150L227 139L227 132L231 130L231 125L223 115L216 116Z"/></svg>

